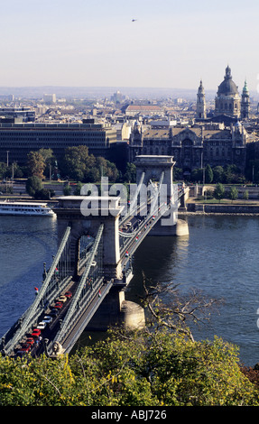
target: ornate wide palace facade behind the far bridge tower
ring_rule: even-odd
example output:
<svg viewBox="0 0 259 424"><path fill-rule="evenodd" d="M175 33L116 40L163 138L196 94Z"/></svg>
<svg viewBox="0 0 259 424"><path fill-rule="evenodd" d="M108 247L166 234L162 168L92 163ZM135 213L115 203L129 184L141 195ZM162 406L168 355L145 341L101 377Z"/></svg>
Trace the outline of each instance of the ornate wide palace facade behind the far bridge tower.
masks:
<svg viewBox="0 0 259 424"><path fill-rule="evenodd" d="M242 124L193 125L148 128L135 123L130 138L130 161L140 154L171 155L175 166L188 176L194 169L235 164L245 171L245 147L251 141Z"/></svg>

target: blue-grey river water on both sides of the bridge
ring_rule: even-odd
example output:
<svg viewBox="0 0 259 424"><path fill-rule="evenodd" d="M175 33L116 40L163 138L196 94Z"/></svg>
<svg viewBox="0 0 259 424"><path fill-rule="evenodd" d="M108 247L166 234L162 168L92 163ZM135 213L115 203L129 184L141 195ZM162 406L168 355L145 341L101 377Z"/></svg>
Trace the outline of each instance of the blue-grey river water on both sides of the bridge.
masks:
<svg viewBox="0 0 259 424"><path fill-rule="evenodd" d="M259 217L188 216L189 236L148 236L134 254L126 299L137 300L142 272L153 282L179 284L224 303L209 323L191 327L196 339L221 336L240 348L240 360L259 362ZM20 317L41 285L43 263L57 250L52 217L0 217L0 336Z"/></svg>

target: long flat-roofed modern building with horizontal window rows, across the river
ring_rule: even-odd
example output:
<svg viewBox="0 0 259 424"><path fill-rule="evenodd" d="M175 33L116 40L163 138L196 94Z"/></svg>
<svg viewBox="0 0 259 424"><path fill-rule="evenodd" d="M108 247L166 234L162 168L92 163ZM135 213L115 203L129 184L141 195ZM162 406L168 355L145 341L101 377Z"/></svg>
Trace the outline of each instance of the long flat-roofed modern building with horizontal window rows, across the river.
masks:
<svg viewBox="0 0 259 424"><path fill-rule="evenodd" d="M67 147L86 145L89 154L110 158L116 144L116 129L110 124L0 124L0 161L24 165L27 154L41 148L52 149L59 161Z"/></svg>

